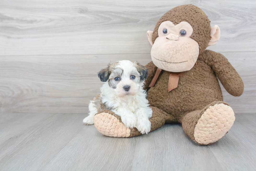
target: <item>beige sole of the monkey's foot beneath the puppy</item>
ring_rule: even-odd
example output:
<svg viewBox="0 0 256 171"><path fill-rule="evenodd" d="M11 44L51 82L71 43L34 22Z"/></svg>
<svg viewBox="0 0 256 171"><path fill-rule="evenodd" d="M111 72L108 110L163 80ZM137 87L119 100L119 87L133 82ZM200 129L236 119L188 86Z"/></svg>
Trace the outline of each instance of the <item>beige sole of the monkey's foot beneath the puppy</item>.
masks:
<svg viewBox="0 0 256 171"><path fill-rule="evenodd" d="M95 115L94 125L100 133L109 137L129 137L131 134L130 128L109 113Z"/></svg>

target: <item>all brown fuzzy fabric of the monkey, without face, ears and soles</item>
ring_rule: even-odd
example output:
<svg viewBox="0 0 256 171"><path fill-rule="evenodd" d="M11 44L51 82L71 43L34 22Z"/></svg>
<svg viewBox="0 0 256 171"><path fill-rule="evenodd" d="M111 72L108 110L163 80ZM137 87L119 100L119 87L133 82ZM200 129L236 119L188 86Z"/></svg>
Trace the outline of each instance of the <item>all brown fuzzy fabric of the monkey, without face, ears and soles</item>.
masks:
<svg viewBox="0 0 256 171"><path fill-rule="evenodd" d="M200 8L191 4L181 5L165 13L155 26L152 36L153 43L158 37L159 25L167 20L172 21L175 25L181 21L190 23L193 27L190 38L199 44L200 51L194 67L181 72L177 88L170 92L167 91L170 72L162 70L155 85L148 90L147 98L153 110L152 117L149 119L150 131L165 123L180 122L185 133L195 141L195 126L204 111L215 104L227 104L223 102L218 78L224 88L233 96L241 96L244 85L240 75L225 56L205 50L211 38L211 27L208 17ZM146 67L148 68L148 78L145 80L145 89L148 89L157 67L153 62L149 62ZM105 110L104 112L113 113ZM121 122L119 116L113 115ZM131 129L130 137L140 134L136 128Z"/></svg>

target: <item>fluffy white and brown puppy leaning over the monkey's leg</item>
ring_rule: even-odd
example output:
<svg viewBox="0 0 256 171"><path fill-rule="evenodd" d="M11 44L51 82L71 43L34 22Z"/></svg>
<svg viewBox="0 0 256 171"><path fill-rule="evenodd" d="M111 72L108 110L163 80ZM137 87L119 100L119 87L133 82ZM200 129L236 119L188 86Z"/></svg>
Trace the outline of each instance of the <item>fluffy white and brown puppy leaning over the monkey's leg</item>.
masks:
<svg viewBox="0 0 256 171"><path fill-rule="evenodd" d="M109 64L98 72L101 81L106 82L101 87L101 94L89 104L89 116L83 122L94 124L94 115L103 109L112 110L121 117L129 128L136 127L142 134L150 131L152 109L143 90L148 69L138 62L118 61Z"/></svg>

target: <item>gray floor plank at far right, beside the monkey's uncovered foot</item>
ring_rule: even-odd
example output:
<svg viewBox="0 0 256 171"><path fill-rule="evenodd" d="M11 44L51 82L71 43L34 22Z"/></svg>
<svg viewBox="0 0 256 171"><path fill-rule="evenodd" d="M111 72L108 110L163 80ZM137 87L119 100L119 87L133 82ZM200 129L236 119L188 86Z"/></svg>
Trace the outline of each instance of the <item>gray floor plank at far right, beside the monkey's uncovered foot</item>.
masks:
<svg viewBox="0 0 256 171"><path fill-rule="evenodd" d="M255 122L255 114L236 115L236 121L228 136L211 145L212 153L224 170L255 170L255 165L251 164L256 163ZM225 156L223 151L226 151Z"/></svg>

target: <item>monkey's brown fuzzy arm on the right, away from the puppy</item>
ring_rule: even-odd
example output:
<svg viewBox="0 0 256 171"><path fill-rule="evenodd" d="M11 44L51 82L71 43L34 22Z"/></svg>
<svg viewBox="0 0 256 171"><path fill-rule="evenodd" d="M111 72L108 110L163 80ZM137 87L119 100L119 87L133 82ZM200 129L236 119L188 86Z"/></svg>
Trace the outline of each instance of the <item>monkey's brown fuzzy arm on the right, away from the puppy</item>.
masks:
<svg viewBox="0 0 256 171"><path fill-rule="evenodd" d="M205 50L202 56L216 73L221 84L229 94L233 96L241 96L243 94L243 81L224 55L211 50Z"/></svg>

